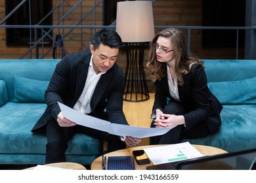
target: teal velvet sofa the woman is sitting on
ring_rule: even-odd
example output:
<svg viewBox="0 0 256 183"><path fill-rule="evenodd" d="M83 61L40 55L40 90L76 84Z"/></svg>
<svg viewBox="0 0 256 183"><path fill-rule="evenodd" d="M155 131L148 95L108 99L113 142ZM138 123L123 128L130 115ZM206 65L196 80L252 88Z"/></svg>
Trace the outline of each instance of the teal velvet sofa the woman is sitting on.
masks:
<svg viewBox="0 0 256 183"><path fill-rule="evenodd" d="M222 125L213 135L184 141L228 152L256 148L256 60L204 61L209 89L223 105Z"/></svg>

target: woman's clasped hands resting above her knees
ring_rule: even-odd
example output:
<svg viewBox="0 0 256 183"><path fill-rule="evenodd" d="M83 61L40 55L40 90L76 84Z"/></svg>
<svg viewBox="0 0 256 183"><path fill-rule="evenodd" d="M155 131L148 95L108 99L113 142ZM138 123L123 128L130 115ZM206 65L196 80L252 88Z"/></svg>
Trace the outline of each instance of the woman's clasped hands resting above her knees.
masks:
<svg viewBox="0 0 256 183"><path fill-rule="evenodd" d="M174 114L160 114L159 118L154 120L156 127L174 128L177 125L185 124L184 116L177 116Z"/></svg>

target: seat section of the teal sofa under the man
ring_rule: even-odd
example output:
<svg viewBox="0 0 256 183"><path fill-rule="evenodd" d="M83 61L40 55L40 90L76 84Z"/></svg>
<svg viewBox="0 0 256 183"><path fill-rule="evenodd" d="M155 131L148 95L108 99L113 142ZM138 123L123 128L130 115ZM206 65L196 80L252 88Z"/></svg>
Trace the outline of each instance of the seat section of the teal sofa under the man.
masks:
<svg viewBox="0 0 256 183"><path fill-rule="evenodd" d="M45 154L45 133L31 130L46 107L45 103L9 102L0 108L0 154ZM100 148L98 139L75 134L66 154L98 155Z"/></svg>

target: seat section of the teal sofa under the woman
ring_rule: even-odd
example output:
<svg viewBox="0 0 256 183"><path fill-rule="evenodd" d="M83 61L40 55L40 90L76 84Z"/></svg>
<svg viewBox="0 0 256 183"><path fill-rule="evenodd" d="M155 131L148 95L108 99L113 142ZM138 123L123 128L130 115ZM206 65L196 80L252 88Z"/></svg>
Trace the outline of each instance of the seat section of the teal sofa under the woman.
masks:
<svg viewBox="0 0 256 183"><path fill-rule="evenodd" d="M202 144L236 152L256 148L256 105L223 105L222 125L213 135L181 142Z"/></svg>

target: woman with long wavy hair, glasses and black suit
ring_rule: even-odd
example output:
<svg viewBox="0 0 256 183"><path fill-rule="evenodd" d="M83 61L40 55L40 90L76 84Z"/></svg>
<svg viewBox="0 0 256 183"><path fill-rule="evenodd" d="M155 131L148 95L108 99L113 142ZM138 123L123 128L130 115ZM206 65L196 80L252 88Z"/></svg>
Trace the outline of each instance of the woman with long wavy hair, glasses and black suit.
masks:
<svg viewBox="0 0 256 183"><path fill-rule="evenodd" d="M167 28L150 42L148 73L155 84L151 127L169 127L150 144L205 137L221 126L222 105L207 87L203 62L188 54L181 30Z"/></svg>

